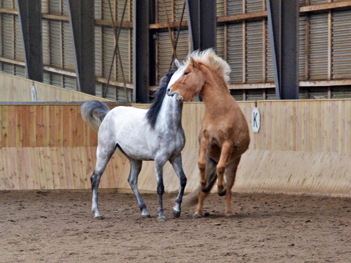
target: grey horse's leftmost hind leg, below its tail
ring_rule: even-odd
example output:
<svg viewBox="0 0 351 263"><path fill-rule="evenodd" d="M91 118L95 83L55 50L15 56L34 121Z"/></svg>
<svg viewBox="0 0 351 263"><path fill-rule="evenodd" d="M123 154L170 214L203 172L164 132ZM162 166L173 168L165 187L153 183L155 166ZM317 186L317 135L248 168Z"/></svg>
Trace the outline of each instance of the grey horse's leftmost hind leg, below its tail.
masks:
<svg viewBox="0 0 351 263"><path fill-rule="evenodd" d="M100 178L102 173L106 168L108 161L110 160L112 154L114 153L116 146L108 144L98 144L96 150L96 165L93 175L90 177L91 180L91 190L92 190L92 205L91 211L94 213L95 218L104 219L99 213L98 208L98 187L100 183Z"/></svg>

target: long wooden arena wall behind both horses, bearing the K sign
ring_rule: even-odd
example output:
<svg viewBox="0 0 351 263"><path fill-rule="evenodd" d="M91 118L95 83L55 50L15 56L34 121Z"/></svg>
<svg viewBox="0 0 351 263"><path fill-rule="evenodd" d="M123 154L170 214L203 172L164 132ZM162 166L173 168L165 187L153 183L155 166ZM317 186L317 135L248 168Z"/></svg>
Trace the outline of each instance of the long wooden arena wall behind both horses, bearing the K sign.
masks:
<svg viewBox="0 0 351 263"><path fill-rule="evenodd" d="M250 126L251 142L239 164L234 191L351 196L351 100L252 101L239 105ZM259 133L251 128L255 106L261 113ZM0 105L0 189L90 188L97 140L81 120L79 107ZM203 103L184 104L186 191L198 186L197 136L203 114ZM100 187L130 189L128 174L128 161L116 151ZM179 187L169 163L164 168L164 183L166 191ZM153 162L143 163L138 187L156 189Z"/></svg>

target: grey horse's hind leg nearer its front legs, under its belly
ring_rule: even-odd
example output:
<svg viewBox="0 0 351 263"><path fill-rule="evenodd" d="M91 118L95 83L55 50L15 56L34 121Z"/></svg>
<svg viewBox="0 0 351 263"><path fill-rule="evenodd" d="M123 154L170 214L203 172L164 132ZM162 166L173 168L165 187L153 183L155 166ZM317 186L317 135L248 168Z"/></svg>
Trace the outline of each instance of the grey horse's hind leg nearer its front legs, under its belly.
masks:
<svg viewBox="0 0 351 263"><path fill-rule="evenodd" d="M137 197L138 204L141 210L141 216L150 217L150 213L147 211L146 204L144 203L144 200L141 197L138 190L138 176L139 176L143 161L129 159L129 162L131 164L131 170L128 177L128 183L131 186L135 197Z"/></svg>

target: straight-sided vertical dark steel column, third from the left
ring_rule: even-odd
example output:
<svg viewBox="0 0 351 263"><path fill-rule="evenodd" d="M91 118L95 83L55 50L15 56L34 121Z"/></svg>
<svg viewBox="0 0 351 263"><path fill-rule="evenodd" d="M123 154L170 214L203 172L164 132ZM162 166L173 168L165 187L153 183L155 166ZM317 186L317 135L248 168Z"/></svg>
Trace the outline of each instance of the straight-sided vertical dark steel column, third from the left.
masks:
<svg viewBox="0 0 351 263"><path fill-rule="evenodd" d="M133 101L149 102L149 1L133 0Z"/></svg>

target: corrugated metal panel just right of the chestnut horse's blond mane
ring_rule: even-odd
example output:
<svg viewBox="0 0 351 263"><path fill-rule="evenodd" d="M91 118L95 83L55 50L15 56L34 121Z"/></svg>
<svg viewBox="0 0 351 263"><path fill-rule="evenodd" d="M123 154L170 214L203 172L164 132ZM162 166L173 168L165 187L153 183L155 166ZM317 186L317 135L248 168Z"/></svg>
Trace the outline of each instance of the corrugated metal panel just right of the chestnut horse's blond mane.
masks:
<svg viewBox="0 0 351 263"><path fill-rule="evenodd" d="M243 82L243 26L241 23L228 25L228 63L232 69L231 83Z"/></svg>

